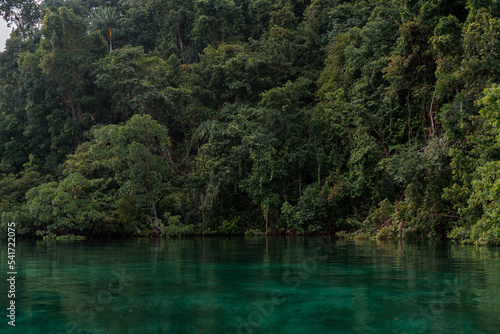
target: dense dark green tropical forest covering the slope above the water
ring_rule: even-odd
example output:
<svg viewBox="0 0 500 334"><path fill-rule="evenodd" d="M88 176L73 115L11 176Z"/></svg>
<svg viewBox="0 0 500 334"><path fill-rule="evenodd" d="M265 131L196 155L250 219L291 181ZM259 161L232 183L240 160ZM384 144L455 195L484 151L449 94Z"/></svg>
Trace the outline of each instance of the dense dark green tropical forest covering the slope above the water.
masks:
<svg viewBox="0 0 500 334"><path fill-rule="evenodd" d="M500 1L0 13L3 233L500 244Z"/></svg>

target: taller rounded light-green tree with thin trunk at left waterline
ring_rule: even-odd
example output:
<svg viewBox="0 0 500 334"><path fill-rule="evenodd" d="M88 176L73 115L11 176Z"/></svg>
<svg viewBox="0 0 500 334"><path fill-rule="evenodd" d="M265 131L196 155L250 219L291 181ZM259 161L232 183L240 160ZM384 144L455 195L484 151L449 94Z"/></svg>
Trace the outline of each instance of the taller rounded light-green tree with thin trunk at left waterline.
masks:
<svg viewBox="0 0 500 334"><path fill-rule="evenodd" d="M170 145L167 129L149 115L135 115L124 125L94 129L92 137L87 147L77 150L67 169L74 168L81 154L94 159L97 166L113 177L119 198L130 197L137 208L151 208L152 227L158 232L156 203L163 196L171 174L167 163Z"/></svg>

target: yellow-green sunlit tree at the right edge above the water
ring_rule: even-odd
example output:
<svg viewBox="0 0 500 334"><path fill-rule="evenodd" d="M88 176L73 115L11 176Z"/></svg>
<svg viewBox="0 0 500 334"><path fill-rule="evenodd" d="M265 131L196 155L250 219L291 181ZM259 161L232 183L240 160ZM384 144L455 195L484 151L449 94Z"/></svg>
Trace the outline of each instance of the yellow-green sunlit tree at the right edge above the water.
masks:
<svg viewBox="0 0 500 334"><path fill-rule="evenodd" d="M500 87L484 90L470 152L453 152L455 183L446 189L460 219L450 237L466 243L500 244ZM464 154L465 153L465 154ZM470 171L465 174L464 171Z"/></svg>

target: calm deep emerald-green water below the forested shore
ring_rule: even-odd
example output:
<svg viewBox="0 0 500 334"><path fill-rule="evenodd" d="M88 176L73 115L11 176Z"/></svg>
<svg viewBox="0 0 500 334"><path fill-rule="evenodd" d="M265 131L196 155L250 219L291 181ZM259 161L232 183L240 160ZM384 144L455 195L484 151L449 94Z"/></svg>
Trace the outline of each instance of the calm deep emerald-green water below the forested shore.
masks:
<svg viewBox="0 0 500 334"><path fill-rule="evenodd" d="M0 246L0 333L500 333L498 248L316 238L18 241L12 328Z"/></svg>

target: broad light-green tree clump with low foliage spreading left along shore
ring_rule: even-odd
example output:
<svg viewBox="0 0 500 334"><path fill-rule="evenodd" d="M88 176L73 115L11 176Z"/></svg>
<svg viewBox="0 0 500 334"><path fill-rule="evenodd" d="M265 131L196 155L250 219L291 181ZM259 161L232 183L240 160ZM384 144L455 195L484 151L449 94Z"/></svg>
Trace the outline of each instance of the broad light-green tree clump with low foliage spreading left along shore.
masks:
<svg viewBox="0 0 500 334"><path fill-rule="evenodd" d="M133 233L149 228L160 235L159 214L164 212L158 212L156 203L165 195L171 174L169 145L166 128L147 115L95 128L91 140L65 162L61 181L27 192L27 208L42 227L40 233ZM131 208L137 220L124 218L120 211Z"/></svg>

